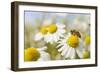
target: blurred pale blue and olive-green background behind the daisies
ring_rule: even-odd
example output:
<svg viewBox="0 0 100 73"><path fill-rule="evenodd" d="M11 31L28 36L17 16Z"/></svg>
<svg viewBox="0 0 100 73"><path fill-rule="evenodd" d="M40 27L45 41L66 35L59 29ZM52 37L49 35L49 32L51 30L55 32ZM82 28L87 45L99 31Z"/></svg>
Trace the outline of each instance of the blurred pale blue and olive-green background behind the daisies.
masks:
<svg viewBox="0 0 100 73"><path fill-rule="evenodd" d="M85 35L90 35L90 14L25 11L24 16L25 49L29 47L38 48L48 46L47 52L51 55L52 60L61 59L58 57L61 55L58 53L57 48L55 47L56 43L51 46L50 44L46 44L43 40L34 40L34 36L37 32L39 32L39 29L43 24L60 23L66 26L66 32L75 29L81 33L83 38Z"/></svg>

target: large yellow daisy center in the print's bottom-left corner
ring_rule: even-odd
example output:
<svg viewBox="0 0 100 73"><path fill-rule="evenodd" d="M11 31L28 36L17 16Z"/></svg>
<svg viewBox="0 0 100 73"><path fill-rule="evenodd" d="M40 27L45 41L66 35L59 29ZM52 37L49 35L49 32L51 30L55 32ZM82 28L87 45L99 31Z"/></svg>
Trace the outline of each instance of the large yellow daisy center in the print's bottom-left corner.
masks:
<svg viewBox="0 0 100 73"><path fill-rule="evenodd" d="M24 50L24 61L36 61L40 53L36 48L27 48Z"/></svg>

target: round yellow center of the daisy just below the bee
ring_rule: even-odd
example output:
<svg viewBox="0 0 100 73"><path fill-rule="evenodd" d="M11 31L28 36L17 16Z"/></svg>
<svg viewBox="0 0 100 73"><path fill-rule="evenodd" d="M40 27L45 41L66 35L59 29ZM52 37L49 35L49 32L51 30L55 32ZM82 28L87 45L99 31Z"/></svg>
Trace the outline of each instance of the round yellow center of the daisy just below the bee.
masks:
<svg viewBox="0 0 100 73"><path fill-rule="evenodd" d="M67 44L70 47L76 48L79 45L79 37L77 35L71 35L68 40L67 40Z"/></svg>

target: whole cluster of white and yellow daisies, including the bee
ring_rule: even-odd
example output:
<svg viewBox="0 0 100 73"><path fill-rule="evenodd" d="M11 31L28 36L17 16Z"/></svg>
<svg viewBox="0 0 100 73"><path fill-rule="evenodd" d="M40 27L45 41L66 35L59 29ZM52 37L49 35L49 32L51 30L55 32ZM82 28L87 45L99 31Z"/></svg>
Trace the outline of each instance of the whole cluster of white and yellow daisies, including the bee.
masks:
<svg viewBox="0 0 100 73"><path fill-rule="evenodd" d="M43 24L36 33L35 41L57 44L56 49L63 59L87 59L90 57L90 34L85 34L75 29L66 31L66 25L60 23ZM84 28L84 27L83 27ZM31 47L25 49L25 61L48 61L51 56L46 52L48 46ZM55 49L54 48L54 49ZM61 58L62 59L62 58Z"/></svg>

